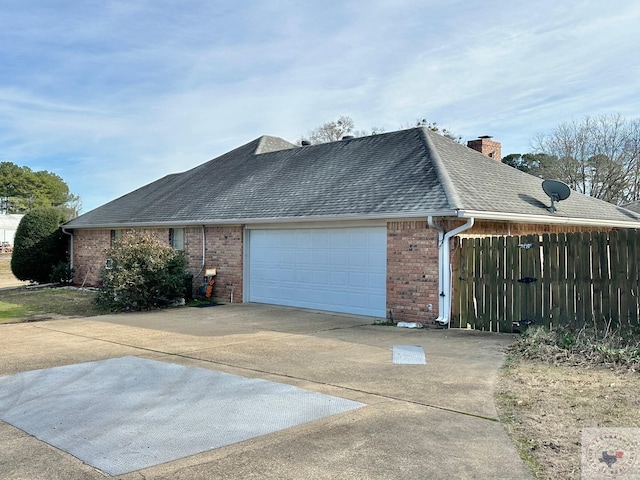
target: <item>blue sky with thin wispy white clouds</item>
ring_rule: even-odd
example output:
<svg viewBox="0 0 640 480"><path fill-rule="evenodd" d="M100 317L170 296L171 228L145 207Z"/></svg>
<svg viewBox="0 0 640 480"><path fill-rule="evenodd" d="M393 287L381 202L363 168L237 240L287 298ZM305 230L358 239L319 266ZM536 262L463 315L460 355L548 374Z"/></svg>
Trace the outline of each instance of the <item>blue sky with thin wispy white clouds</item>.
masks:
<svg viewBox="0 0 640 480"><path fill-rule="evenodd" d="M640 117L633 0L0 0L0 161L92 210L261 135L425 118L503 156Z"/></svg>

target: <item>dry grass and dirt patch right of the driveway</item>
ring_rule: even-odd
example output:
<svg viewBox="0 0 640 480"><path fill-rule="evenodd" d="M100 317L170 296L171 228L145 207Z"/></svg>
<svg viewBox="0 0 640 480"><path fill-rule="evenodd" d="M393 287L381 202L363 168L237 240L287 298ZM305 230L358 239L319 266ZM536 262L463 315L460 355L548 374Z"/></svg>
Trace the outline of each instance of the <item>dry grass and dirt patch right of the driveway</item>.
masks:
<svg viewBox="0 0 640 480"><path fill-rule="evenodd" d="M579 479L583 428L640 427L640 375L512 356L496 404L536 478Z"/></svg>

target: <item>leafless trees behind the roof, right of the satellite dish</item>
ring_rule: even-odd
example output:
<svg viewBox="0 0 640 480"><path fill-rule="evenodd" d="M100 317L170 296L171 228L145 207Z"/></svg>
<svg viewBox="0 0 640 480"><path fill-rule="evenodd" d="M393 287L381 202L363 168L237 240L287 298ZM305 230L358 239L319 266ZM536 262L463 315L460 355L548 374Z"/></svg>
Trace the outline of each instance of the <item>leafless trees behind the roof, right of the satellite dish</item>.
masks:
<svg viewBox="0 0 640 480"><path fill-rule="evenodd" d="M540 173L602 200L623 204L640 197L640 121L620 115L563 123L533 142L545 154Z"/></svg>

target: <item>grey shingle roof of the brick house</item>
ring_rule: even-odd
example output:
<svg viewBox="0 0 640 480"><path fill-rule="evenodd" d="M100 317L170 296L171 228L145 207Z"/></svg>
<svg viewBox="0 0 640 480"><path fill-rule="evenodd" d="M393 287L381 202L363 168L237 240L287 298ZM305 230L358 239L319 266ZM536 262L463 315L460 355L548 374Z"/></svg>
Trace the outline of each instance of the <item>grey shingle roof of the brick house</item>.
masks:
<svg viewBox="0 0 640 480"><path fill-rule="evenodd" d="M572 192L546 210L542 180L428 129L297 147L263 136L71 220L68 228L459 215L628 222ZM484 215L484 216L483 216Z"/></svg>

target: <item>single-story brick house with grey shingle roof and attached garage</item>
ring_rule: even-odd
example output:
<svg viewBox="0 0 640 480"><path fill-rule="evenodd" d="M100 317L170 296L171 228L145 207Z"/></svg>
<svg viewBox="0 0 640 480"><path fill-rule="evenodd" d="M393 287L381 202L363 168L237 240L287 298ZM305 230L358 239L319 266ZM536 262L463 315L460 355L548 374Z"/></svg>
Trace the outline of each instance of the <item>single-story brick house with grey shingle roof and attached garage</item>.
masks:
<svg viewBox="0 0 640 480"><path fill-rule="evenodd" d="M639 228L640 215L572 192L548 210L542 180L500 163L489 137L414 128L312 146L263 136L168 175L64 227L75 282L96 284L119 232L183 249L215 296L446 324L459 235Z"/></svg>

